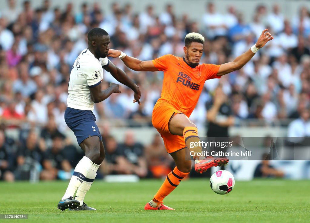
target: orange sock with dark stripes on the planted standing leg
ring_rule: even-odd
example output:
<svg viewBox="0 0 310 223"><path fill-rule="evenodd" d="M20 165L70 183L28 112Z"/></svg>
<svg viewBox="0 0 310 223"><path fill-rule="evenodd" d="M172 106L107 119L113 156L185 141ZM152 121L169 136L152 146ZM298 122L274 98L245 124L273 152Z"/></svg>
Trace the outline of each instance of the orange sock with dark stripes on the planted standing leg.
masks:
<svg viewBox="0 0 310 223"><path fill-rule="evenodd" d="M158 207L163 199L171 193L172 190L174 190L181 182L181 180L186 177L188 173L183 173L179 171L177 167L172 170L168 176L166 177L164 183L157 191L156 195L154 196L154 199L149 202L149 204L156 208Z"/></svg>

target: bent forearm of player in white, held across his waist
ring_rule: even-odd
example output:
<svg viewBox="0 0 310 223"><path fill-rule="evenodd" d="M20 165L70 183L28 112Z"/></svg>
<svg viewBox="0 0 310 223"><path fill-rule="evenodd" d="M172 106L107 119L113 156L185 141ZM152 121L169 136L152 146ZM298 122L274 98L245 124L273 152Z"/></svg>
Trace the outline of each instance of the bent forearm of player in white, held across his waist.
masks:
<svg viewBox="0 0 310 223"><path fill-rule="evenodd" d="M89 90L91 91L91 100L94 103L102 102L113 93L121 93L119 85L115 83L111 83L106 90L101 90L101 83L95 87L89 88Z"/></svg>

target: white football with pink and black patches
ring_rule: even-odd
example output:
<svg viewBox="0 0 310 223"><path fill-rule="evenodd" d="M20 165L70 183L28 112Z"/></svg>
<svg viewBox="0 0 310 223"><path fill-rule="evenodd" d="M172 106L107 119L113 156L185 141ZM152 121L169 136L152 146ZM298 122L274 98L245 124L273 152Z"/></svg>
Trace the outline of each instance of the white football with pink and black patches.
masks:
<svg viewBox="0 0 310 223"><path fill-rule="evenodd" d="M227 194L235 186L235 179L227 170L219 170L212 174L210 187L217 194Z"/></svg>

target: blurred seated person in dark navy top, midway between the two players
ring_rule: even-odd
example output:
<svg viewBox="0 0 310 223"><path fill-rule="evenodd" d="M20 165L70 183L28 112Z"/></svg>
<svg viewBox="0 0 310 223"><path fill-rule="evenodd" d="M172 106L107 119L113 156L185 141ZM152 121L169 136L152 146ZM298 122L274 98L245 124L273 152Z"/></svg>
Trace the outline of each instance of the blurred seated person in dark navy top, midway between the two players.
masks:
<svg viewBox="0 0 310 223"><path fill-rule="evenodd" d="M126 174L136 174L139 177L148 175L144 147L135 142L134 133L130 130L125 133L124 143L119 145L118 154L118 164L126 167Z"/></svg>

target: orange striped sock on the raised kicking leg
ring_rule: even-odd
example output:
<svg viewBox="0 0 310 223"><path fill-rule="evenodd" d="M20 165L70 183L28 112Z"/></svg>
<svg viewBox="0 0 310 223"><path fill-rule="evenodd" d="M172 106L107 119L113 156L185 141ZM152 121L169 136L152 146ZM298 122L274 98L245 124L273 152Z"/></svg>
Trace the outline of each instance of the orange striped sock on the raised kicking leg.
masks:
<svg viewBox="0 0 310 223"><path fill-rule="evenodd" d="M196 127L185 127L183 130L183 136L185 140L185 144L190 151L201 152L201 146L195 146L199 142L200 138L198 136L198 129ZM198 144L197 144L198 145ZM197 156L193 156L194 160L197 159ZM199 158L199 157L198 157ZM204 159L204 158L201 158Z"/></svg>

